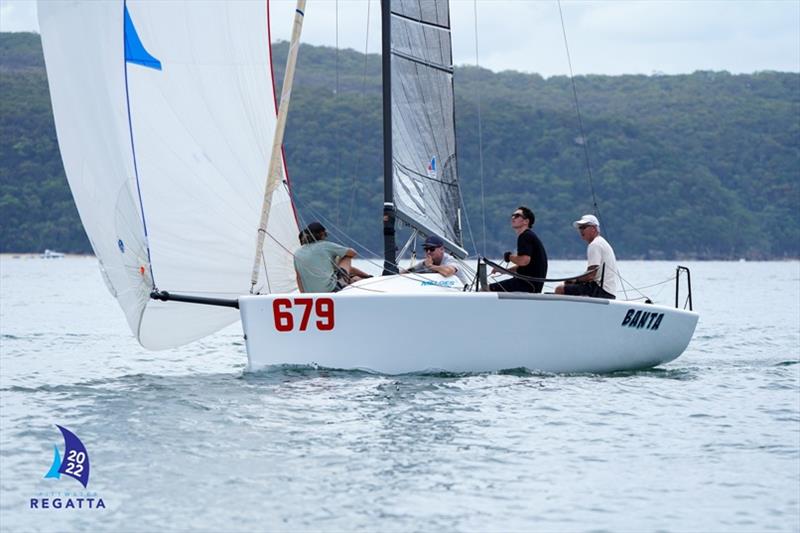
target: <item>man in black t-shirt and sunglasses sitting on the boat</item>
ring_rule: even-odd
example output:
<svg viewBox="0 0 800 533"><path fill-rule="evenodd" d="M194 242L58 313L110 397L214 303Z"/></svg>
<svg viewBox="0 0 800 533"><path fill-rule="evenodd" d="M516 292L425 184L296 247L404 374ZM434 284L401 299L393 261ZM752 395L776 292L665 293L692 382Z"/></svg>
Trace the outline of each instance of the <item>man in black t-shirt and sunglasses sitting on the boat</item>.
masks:
<svg viewBox="0 0 800 533"><path fill-rule="evenodd" d="M547 277L547 252L542 241L531 229L536 216L529 208L520 206L511 214L511 229L517 234L517 253L506 252L503 260L513 263L509 270L533 278ZM496 270L492 270L492 273ZM489 290L494 292L542 292L543 282L510 278L492 283Z"/></svg>

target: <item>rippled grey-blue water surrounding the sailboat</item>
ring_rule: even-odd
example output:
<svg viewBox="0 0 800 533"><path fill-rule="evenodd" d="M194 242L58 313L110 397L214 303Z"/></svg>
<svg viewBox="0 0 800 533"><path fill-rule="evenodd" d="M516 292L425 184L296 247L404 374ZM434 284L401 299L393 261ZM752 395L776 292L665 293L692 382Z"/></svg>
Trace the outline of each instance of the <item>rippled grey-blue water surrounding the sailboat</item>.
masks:
<svg viewBox="0 0 800 533"><path fill-rule="evenodd" d="M800 263L689 266L700 324L663 368L389 377L245 374L238 326L148 352L93 258L3 257L0 529L800 531ZM55 424L87 489L43 479Z"/></svg>

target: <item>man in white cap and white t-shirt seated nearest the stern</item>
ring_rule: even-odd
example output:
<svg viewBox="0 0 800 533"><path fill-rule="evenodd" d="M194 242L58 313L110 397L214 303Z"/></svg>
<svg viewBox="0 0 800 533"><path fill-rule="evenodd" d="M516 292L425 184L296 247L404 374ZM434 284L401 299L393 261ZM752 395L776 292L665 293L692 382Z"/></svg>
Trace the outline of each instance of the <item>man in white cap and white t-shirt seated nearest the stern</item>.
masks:
<svg viewBox="0 0 800 533"><path fill-rule="evenodd" d="M615 299L617 292L617 258L614 249L600 235L600 221L594 215L583 215L572 223L586 247L586 275L556 287L556 294Z"/></svg>

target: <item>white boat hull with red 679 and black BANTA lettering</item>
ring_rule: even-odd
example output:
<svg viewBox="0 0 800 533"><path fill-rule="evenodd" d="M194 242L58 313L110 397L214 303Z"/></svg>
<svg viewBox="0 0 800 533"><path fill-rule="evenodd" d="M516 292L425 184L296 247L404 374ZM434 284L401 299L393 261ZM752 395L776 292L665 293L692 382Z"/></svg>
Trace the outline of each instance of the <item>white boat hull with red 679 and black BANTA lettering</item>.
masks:
<svg viewBox="0 0 800 533"><path fill-rule="evenodd" d="M633 370L677 358L698 320L696 313L657 305L430 284L438 280L393 276L365 280L369 292L356 286L335 294L243 296L248 370L277 364L384 374Z"/></svg>

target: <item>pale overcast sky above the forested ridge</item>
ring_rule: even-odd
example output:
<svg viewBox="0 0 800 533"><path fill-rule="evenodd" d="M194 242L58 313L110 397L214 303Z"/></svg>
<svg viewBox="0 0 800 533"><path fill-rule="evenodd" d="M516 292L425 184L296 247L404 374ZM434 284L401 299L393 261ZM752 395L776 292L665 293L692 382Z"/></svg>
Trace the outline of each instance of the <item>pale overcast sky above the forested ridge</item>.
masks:
<svg viewBox="0 0 800 533"><path fill-rule="evenodd" d="M555 0L450 3L456 64L476 62L477 8L481 66L545 76L568 72ZM562 0L561 5L576 74L800 72L800 0ZM287 39L295 2L271 0L271 6L273 39ZM378 52L379 0L308 0L303 42L335 45L337 6L339 46ZM36 3L0 0L0 30L38 31Z"/></svg>

